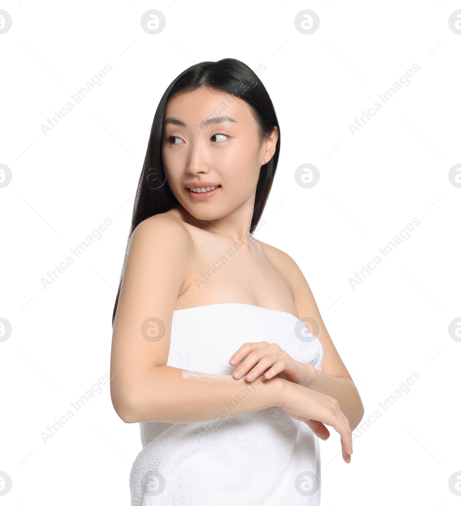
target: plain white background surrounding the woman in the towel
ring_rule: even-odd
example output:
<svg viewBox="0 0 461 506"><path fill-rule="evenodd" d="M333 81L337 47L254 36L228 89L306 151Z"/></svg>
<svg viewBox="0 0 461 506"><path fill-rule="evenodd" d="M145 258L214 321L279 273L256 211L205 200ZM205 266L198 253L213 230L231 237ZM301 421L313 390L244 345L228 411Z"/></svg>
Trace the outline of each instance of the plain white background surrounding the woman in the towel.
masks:
<svg viewBox="0 0 461 506"><path fill-rule="evenodd" d="M461 470L461 35L457 2L21 2L0 35L0 471L3 504L129 504L141 450L109 385L44 443L40 433L109 370L111 318L133 196L164 90L185 68L233 57L260 77L276 109L280 161L256 237L303 270L326 327L359 389L364 419L413 371L421 377L366 432L347 465L339 435L320 441L322 505L458 504ZM165 29L140 19L160 10ZM320 18L310 35L295 16ZM45 136L40 125L109 63L113 69ZM360 131L348 125L413 64L421 67ZM301 188L302 163L319 183ZM54 283L40 282L103 220L113 223ZM351 288L349 278L410 223L391 254ZM382 257L383 258L383 257ZM458 260L456 260L458 259ZM358 437L357 437L358 436ZM460 473L461 475L461 473Z"/></svg>

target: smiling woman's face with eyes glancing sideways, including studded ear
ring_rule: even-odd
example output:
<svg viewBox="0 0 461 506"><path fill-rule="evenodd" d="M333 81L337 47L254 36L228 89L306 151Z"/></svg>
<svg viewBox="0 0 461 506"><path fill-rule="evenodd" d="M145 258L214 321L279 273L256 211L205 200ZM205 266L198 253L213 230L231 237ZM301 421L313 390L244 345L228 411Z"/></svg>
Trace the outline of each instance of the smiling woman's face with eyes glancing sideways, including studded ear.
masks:
<svg viewBox="0 0 461 506"><path fill-rule="evenodd" d="M265 170L261 165L272 158L276 142L275 129L260 145L249 106L223 92L200 88L170 99L165 107L162 160L167 182L199 220L223 218L236 209L252 216L259 173Z"/></svg>

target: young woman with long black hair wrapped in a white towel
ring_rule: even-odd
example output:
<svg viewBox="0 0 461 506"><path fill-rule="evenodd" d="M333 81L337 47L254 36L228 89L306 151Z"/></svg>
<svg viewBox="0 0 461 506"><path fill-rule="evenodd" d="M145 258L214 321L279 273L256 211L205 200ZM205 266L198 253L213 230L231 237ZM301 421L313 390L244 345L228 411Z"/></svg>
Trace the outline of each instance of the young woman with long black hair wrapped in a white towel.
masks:
<svg viewBox="0 0 461 506"><path fill-rule="evenodd" d="M279 151L239 60L191 66L157 107L112 318L133 506L319 504L326 426L351 461L358 391L295 261L252 235Z"/></svg>

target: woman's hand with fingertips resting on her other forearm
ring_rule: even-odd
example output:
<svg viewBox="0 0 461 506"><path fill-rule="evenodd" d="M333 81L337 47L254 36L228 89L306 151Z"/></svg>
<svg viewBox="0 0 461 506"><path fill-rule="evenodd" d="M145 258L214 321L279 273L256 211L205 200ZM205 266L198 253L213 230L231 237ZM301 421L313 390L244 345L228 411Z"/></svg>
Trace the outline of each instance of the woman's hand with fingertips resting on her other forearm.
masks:
<svg viewBox="0 0 461 506"><path fill-rule="evenodd" d="M238 364L243 358L243 362ZM300 364L280 346L266 341L245 343L232 355L229 363L238 364L233 377L239 379L246 374L247 381L254 381L264 372L264 379L279 375L287 381L307 387L316 373L313 365Z"/></svg>

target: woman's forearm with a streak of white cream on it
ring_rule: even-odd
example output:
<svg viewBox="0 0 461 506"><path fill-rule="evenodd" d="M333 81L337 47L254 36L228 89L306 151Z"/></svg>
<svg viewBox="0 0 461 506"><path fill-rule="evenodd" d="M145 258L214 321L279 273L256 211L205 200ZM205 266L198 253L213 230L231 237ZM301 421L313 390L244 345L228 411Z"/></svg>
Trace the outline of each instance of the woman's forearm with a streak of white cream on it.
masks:
<svg viewBox="0 0 461 506"><path fill-rule="evenodd" d="M113 377L112 402L126 423L170 424L219 420L283 403L285 379L276 377L249 383L231 376L200 374L193 371L183 374L183 369L160 365L138 378L136 386L130 389L117 385L117 378ZM123 395L117 395L122 391Z"/></svg>

